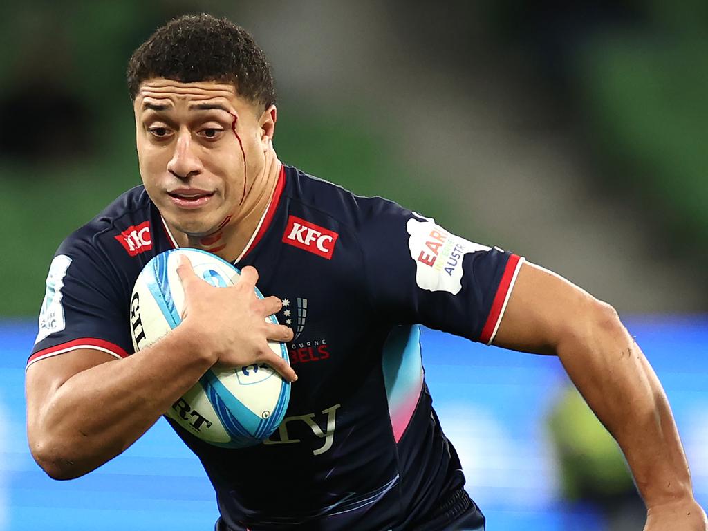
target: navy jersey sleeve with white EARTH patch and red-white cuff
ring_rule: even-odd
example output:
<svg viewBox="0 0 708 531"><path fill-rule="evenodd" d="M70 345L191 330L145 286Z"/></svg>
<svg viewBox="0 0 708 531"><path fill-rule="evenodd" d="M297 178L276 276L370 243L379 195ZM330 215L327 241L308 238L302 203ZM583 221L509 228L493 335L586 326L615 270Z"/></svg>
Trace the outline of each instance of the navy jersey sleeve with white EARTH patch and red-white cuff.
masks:
<svg viewBox="0 0 708 531"><path fill-rule="evenodd" d="M523 258L372 198L360 227L365 282L384 319L491 343Z"/></svg>

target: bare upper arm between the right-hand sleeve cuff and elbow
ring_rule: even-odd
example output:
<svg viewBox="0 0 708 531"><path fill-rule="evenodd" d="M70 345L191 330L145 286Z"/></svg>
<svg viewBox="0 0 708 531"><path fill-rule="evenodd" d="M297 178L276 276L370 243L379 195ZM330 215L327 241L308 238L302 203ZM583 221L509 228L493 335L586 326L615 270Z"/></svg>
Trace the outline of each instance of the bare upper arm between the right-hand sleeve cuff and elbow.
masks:
<svg viewBox="0 0 708 531"><path fill-rule="evenodd" d="M588 312L600 303L556 273L523 263L493 345L537 354L555 354L569 334L583 333Z"/></svg>

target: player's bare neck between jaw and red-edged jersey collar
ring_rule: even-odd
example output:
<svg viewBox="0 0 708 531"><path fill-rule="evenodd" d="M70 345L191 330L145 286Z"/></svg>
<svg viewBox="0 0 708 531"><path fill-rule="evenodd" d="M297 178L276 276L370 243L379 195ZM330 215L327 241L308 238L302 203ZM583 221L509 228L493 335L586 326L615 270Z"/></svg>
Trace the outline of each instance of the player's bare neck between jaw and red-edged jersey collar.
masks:
<svg viewBox="0 0 708 531"><path fill-rule="evenodd" d="M275 185L278 184L281 168L282 163L275 155L275 151L270 149L265 154L265 164L261 173L253 181L239 210L227 217L222 227L207 236L191 236L170 227L177 243L180 246L209 251L229 262L236 261L246 251L246 246L258 229L265 210L268 209Z"/></svg>

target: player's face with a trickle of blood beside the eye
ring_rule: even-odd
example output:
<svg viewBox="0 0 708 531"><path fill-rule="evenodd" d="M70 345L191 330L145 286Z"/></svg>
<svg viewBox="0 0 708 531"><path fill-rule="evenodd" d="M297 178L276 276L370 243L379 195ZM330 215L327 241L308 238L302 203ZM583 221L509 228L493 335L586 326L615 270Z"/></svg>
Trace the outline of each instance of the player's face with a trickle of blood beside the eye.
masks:
<svg viewBox="0 0 708 531"><path fill-rule="evenodd" d="M161 78L133 107L140 175L166 222L205 236L238 218L262 185L275 108L259 112L232 84Z"/></svg>

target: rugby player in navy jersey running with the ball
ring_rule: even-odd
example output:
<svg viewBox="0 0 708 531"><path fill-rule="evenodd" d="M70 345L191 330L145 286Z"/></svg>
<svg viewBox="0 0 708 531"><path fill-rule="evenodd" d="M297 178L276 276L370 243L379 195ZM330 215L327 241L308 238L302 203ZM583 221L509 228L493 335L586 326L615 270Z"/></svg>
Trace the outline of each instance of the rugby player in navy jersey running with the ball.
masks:
<svg viewBox="0 0 708 531"><path fill-rule="evenodd" d="M612 307L513 253L282 164L268 62L229 21L159 28L127 81L143 185L59 246L28 361L28 439L52 478L113 459L212 365L265 362L295 383L262 445L222 449L171 422L215 487L217 530L484 529L431 406L423 324L558 355L624 450L646 530L707 529L661 384ZM185 246L232 261L241 280L215 288L183 261L183 323L133 353L135 279ZM256 299L256 282L271 296ZM287 342L292 367L268 339Z"/></svg>

